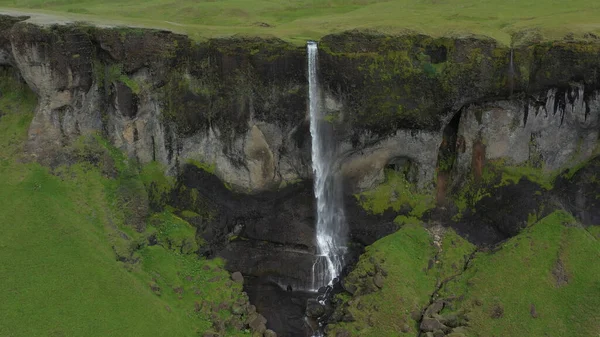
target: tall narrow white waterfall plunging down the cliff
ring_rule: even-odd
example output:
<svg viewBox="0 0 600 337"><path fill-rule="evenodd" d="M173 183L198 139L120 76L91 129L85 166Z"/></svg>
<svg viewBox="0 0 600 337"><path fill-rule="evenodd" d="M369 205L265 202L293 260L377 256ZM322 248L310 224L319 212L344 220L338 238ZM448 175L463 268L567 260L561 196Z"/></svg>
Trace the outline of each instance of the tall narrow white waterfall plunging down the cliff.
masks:
<svg viewBox="0 0 600 337"><path fill-rule="evenodd" d="M340 275L346 251L346 219L341 186L334 174L335 141L331 123L324 120L317 76L317 43L309 41L308 84L312 166L317 200L317 256L312 270L312 290L331 285Z"/></svg>

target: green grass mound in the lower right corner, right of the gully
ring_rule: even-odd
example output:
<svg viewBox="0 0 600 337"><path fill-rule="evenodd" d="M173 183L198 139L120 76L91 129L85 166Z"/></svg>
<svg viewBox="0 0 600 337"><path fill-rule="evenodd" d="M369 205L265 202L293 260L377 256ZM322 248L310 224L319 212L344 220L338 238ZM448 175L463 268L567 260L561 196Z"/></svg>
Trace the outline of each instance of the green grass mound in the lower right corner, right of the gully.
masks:
<svg viewBox="0 0 600 337"><path fill-rule="evenodd" d="M465 296L458 308L468 312L470 336L600 334L600 244L575 224L570 215L555 212L499 251L478 253L467 272L447 285L445 295ZM560 287L552 273L558 258L568 275ZM491 317L496 306L503 317Z"/></svg>

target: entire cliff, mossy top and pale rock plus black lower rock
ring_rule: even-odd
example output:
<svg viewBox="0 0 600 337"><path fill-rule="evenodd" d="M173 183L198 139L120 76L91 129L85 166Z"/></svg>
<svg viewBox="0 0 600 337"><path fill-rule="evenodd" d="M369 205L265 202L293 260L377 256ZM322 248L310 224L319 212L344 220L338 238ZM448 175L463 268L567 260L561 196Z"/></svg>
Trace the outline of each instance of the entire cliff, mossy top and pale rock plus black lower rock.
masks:
<svg viewBox="0 0 600 337"><path fill-rule="evenodd" d="M561 175L549 191L527 179L492 183L491 195L467 195L466 210L455 198L489 183L499 167L593 173L598 37L515 35L505 46L481 36L351 31L323 37L318 56L357 253L394 232L399 214L418 213L482 246L514 236L530 214L559 207L583 224L600 222L597 186L585 170ZM259 280L251 300L267 283L302 289L315 252L304 46L2 16L0 65L38 97L30 159L60 165L64 147L95 134L140 164L158 162L177 184L150 190L150 206L193 211L189 221L208 242L199 253ZM428 210L415 213L410 202L365 209L361 195L384 183L386 172L430 195ZM478 211L486 205L501 207ZM272 304L262 312L276 331L302 329L283 323Z"/></svg>

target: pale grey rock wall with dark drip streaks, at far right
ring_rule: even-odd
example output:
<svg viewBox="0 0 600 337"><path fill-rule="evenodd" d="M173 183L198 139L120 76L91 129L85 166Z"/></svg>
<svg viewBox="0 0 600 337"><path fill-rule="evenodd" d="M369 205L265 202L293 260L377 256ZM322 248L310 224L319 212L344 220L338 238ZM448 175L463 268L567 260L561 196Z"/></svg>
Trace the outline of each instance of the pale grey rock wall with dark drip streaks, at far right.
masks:
<svg viewBox="0 0 600 337"><path fill-rule="evenodd" d="M511 101L473 104L462 111L457 174L469 172L477 144L486 160L530 164L547 171L582 162L598 146L600 97L583 86L550 89Z"/></svg>

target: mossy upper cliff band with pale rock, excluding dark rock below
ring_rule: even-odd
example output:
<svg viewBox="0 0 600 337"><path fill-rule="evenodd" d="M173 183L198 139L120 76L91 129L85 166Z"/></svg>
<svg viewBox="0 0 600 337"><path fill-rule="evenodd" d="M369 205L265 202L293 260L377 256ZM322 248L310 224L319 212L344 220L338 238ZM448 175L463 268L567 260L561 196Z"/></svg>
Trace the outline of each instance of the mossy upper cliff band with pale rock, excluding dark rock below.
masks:
<svg viewBox="0 0 600 337"><path fill-rule="evenodd" d="M101 132L142 163L174 174L195 160L244 192L310 178L304 47L24 19L2 17L0 62L40 98L29 140L40 160ZM455 180L474 144L512 164L577 164L598 143L599 53L595 40L510 49L475 37L325 37L320 81L349 190L398 163L432 188L440 145L458 152Z"/></svg>

